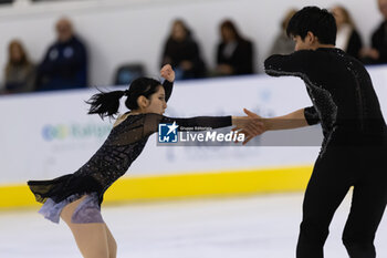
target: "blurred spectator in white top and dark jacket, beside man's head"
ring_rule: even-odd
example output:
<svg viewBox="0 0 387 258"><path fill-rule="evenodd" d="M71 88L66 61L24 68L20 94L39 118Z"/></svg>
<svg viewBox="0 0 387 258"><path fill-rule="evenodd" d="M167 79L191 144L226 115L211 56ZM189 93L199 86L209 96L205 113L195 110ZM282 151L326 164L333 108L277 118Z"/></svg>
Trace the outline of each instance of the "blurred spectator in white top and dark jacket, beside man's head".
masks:
<svg viewBox="0 0 387 258"><path fill-rule="evenodd" d="M356 59L360 59L363 43L348 10L336 6L332 8L332 14L335 17L337 25L336 48L342 49Z"/></svg>

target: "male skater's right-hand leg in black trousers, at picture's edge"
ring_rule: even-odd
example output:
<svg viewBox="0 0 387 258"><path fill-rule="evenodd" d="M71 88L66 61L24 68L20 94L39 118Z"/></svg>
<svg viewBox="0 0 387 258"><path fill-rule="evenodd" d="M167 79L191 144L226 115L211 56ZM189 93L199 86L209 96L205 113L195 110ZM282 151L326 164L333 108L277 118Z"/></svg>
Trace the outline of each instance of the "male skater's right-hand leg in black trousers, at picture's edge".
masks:
<svg viewBox="0 0 387 258"><path fill-rule="evenodd" d="M355 184L343 242L351 258L375 258L375 233L387 203L387 148L363 152L364 166Z"/></svg>

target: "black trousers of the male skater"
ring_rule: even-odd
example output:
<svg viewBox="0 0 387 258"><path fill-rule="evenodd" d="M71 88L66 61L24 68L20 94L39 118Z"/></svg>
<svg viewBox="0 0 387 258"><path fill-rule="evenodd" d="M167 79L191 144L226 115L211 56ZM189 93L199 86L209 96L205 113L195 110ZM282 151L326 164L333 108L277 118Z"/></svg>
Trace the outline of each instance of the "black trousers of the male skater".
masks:
<svg viewBox="0 0 387 258"><path fill-rule="evenodd" d="M375 258L375 233L387 203L387 145L327 146L308 182L297 258L323 258L332 218L354 186L343 244L351 258Z"/></svg>

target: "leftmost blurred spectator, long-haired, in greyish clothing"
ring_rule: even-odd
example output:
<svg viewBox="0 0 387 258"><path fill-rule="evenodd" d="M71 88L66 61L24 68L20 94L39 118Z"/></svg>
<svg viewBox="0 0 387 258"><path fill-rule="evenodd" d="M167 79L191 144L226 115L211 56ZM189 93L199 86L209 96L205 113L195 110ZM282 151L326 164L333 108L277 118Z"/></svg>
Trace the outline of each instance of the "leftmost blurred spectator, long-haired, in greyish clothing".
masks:
<svg viewBox="0 0 387 258"><path fill-rule="evenodd" d="M8 45L8 63L4 69L3 93L21 93L33 91L35 68L18 40Z"/></svg>

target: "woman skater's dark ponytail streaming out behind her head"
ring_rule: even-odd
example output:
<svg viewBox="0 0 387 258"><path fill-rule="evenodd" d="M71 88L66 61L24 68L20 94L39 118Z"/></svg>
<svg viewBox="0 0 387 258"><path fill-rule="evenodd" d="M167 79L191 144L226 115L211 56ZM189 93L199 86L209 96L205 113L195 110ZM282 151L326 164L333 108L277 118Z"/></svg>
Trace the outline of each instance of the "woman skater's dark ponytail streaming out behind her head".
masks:
<svg viewBox="0 0 387 258"><path fill-rule="evenodd" d="M119 99L125 94L125 91L100 92L94 94L87 104L91 104L87 114L98 114L101 118L106 116L114 117L118 113Z"/></svg>

